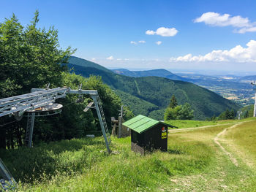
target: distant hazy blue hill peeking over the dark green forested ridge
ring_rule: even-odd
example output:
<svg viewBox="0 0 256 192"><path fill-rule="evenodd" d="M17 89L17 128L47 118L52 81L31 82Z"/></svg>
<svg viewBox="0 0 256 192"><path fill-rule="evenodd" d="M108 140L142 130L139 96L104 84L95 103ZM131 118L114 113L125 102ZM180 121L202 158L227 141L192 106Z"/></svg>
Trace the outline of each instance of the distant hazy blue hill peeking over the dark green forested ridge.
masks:
<svg viewBox="0 0 256 192"><path fill-rule="evenodd" d="M153 69L153 70L146 70L146 71L129 71L127 69L113 69L113 72L116 74L123 74L129 77L148 77L148 76L155 76L155 77L166 77L170 80L185 80L185 78L180 77L172 72L167 71L166 69Z"/></svg>

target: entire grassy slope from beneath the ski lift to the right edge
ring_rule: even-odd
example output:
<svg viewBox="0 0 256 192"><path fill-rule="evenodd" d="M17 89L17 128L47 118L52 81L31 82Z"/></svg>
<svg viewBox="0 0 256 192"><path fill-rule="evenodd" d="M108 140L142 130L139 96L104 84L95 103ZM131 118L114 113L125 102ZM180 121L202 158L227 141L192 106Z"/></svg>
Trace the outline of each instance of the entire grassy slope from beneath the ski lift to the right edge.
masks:
<svg viewBox="0 0 256 192"><path fill-rule="evenodd" d="M113 138L108 155L97 137L1 150L0 156L20 180L17 191L256 191L256 120L202 129L189 122L195 129L170 132L167 153L138 155L127 137ZM214 143L222 131L219 142L238 166Z"/></svg>

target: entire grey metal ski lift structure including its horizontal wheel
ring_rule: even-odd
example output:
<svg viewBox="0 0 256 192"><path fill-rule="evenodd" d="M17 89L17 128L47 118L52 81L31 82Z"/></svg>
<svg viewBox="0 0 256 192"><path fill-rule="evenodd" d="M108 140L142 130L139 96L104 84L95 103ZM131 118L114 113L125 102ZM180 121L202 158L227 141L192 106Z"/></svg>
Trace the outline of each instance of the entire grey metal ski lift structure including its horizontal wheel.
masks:
<svg viewBox="0 0 256 192"><path fill-rule="evenodd" d="M102 102L99 99L99 94L96 90L83 90L82 85L78 90L71 88L32 88L31 93L23 94L20 96L12 96L0 99L0 118L5 115L14 115L16 120L21 120L23 116L28 118L26 126L26 145L32 147L32 137L34 131L34 119L36 117L56 115L62 111L62 105L56 104L56 99L64 98L67 94L78 94L77 102L83 101L83 95L91 96L93 102L83 110L87 112L89 109L96 109L99 118L99 124L102 129L102 134L105 139L105 145L108 153L110 153L110 134L105 120L105 115L102 109ZM26 112L26 115L24 113ZM2 177L1 183L4 186L3 180L7 183L15 183L15 179L10 174L4 162L0 158L0 176Z"/></svg>

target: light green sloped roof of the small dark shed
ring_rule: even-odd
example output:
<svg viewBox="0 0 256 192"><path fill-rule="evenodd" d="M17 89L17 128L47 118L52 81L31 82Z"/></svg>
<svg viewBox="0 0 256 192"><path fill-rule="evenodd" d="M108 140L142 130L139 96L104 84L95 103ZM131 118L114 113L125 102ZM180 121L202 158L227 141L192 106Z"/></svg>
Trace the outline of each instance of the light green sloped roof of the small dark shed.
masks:
<svg viewBox="0 0 256 192"><path fill-rule="evenodd" d="M127 120L125 123L123 123L123 125L127 126L128 128L132 129L133 131L136 131L139 134L141 134L142 132L148 130L148 128L156 126L159 123L161 123L165 126L173 127L169 124L162 123L158 120L154 120L154 119L148 118L148 117L143 116L143 115L138 115L135 118Z"/></svg>

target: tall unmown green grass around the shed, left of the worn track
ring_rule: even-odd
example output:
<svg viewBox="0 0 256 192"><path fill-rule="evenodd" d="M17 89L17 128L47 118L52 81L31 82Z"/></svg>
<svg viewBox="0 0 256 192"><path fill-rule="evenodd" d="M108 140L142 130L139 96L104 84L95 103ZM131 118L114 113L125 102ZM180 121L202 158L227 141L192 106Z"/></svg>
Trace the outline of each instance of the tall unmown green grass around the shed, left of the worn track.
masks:
<svg viewBox="0 0 256 192"><path fill-rule="evenodd" d="M201 142L170 137L166 153L141 156L130 150L127 137L113 138L114 153L108 155L102 141L72 139L0 155L20 180L20 191L154 191L173 175L202 172L214 154Z"/></svg>

